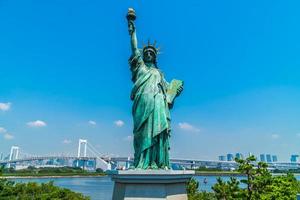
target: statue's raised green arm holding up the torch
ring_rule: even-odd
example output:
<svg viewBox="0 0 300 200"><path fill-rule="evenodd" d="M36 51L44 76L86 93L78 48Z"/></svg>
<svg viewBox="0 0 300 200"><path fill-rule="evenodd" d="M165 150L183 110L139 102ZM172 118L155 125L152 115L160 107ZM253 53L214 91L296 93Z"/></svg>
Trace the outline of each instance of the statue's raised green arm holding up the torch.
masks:
<svg viewBox="0 0 300 200"><path fill-rule="evenodd" d="M139 49L137 47L137 37L136 37L136 29L134 20L136 19L135 11L133 8L128 8L128 13L126 16L128 20L128 31L131 39L131 50L133 55L137 55L139 53Z"/></svg>

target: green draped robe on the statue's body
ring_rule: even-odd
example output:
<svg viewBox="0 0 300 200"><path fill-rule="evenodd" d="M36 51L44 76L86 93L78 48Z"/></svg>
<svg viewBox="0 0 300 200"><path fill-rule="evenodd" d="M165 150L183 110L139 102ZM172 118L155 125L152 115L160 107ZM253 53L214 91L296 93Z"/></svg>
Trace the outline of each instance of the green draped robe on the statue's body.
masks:
<svg viewBox="0 0 300 200"><path fill-rule="evenodd" d="M170 111L168 83L156 67L148 67L140 54L129 59L134 83L134 165L136 168L169 168Z"/></svg>

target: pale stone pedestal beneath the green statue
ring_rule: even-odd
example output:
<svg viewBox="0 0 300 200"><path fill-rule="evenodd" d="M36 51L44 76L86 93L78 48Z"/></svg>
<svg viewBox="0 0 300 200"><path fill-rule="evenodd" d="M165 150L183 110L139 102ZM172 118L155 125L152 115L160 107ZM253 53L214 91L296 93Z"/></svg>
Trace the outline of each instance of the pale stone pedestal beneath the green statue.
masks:
<svg viewBox="0 0 300 200"><path fill-rule="evenodd" d="M187 200L186 183L195 171L126 170L112 174L113 200Z"/></svg>

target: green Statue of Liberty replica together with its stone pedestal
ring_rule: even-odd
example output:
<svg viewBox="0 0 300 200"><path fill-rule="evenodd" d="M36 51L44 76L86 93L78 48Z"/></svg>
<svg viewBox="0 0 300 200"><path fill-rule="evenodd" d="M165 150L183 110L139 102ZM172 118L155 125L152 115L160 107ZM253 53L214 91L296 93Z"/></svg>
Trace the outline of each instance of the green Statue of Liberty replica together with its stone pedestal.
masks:
<svg viewBox="0 0 300 200"><path fill-rule="evenodd" d="M195 171L167 170L170 169L170 109L183 90L183 82L173 79L168 83L165 80L157 65L159 52L155 43L148 42L142 49L138 48L135 19L135 11L129 8L127 20L132 50L129 65L133 82L134 167L142 170L114 171L112 199L188 200L186 184Z"/></svg>

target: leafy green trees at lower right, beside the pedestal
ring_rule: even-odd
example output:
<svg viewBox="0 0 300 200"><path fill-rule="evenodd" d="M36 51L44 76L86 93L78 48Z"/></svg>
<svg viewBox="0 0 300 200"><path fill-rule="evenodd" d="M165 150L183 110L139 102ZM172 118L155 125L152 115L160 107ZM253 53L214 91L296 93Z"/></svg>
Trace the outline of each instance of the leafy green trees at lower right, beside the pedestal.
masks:
<svg viewBox="0 0 300 200"><path fill-rule="evenodd" d="M240 187L235 178L227 182L218 178L218 182L212 187L217 199L289 200L296 199L296 194L300 192L299 181L293 174L272 176L266 163L259 162L255 166L254 156L245 160L236 159L236 162L239 164L237 171L246 175L246 179L240 181L246 187Z"/></svg>

